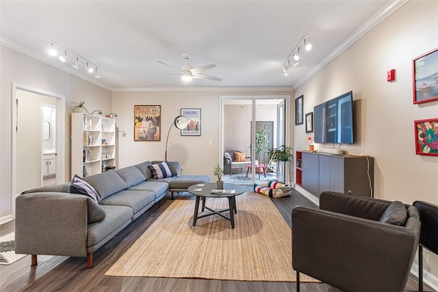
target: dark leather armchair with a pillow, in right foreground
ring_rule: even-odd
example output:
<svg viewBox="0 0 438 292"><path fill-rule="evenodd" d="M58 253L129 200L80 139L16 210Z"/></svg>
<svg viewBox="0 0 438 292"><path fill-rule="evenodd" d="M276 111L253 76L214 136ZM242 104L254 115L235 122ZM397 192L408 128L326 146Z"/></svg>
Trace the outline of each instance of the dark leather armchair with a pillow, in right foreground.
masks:
<svg viewBox="0 0 438 292"><path fill-rule="evenodd" d="M391 203L326 191L320 209L294 208L297 291L300 273L344 291L403 291L421 224L415 207Z"/></svg>

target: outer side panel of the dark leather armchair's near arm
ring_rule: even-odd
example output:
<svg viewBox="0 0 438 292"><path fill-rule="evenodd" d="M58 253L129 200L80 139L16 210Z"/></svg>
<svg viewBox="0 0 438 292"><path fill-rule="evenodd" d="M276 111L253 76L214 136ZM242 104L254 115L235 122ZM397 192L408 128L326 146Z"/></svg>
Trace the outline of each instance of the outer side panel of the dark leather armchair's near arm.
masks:
<svg viewBox="0 0 438 292"><path fill-rule="evenodd" d="M296 207L292 266L345 291L402 291L417 249L420 221L409 218L407 226Z"/></svg>

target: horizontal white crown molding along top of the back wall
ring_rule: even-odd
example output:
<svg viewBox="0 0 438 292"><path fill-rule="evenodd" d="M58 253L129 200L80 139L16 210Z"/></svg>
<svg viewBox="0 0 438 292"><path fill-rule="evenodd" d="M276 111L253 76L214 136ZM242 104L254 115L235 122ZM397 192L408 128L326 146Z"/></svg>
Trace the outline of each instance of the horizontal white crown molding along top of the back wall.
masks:
<svg viewBox="0 0 438 292"><path fill-rule="evenodd" d="M292 87L113 88L112 92L290 92L292 90Z"/></svg>

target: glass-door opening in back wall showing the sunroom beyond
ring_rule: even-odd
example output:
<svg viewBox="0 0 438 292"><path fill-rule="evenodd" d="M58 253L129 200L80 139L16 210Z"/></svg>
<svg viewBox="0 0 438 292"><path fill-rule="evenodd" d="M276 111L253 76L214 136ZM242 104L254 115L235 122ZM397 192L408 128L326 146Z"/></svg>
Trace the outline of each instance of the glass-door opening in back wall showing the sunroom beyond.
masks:
<svg viewBox="0 0 438 292"><path fill-rule="evenodd" d="M250 185L257 181L275 179L276 173L272 172L272 168L267 167L269 171L260 173L262 168L255 169L254 165L257 160L260 164L268 166L268 148L289 143L289 133L286 131L289 112L285 106L289 105L289 96L220 96L220 105L219 161L223 163L225 150L237 150L250 157L242 168L235 165L236 168L233 167L231 174L224 176L224 181ZM264 135L267 135L266 140L269 142L259 158L256 147L252 145L257 144L254 133L261 129L263 133L266 131Z"/></svg>

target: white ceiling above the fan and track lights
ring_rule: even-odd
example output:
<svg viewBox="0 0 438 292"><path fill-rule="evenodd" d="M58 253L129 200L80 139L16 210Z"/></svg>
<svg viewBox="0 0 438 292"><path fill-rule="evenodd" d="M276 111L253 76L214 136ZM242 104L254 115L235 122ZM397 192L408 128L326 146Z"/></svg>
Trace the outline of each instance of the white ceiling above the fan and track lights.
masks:
<svg viewBox="0 0 438 292"><path fill-rule="evenodd" d="M406 0L0 1L1 44L109 90L296 88ZM298 66L283 64L306 34ZM49 57L53 40L101 78ZM222 81L184 83L181 53ZM75 56L68 55L75 59Z"/></svg>

